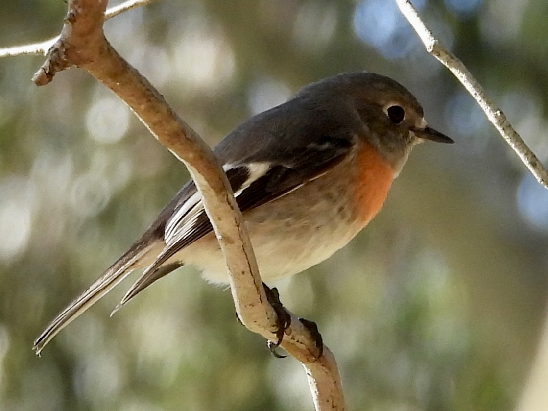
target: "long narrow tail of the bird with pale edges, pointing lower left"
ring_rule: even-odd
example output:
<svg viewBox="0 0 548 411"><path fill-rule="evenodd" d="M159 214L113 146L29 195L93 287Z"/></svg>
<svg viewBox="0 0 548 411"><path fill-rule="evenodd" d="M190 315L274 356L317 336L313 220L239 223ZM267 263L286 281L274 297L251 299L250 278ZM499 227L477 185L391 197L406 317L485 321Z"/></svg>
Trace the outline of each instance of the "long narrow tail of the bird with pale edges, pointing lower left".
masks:
<svg viewBox="0 0 548 411"><path fill-rule="evenodd" d="M33 350L39 354L63 328L117 286L130 272L149 265L164 247L163 241L137 242L82 294L68 304L36 338Z"/></svg>

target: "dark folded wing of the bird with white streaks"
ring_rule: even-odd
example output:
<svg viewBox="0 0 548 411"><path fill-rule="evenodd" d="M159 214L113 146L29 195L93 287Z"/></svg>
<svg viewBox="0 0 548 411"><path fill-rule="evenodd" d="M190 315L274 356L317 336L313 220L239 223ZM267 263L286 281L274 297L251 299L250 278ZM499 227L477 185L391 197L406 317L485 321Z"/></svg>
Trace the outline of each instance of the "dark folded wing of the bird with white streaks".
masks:
<svg viewBox="0 0 548 411"><path fill-rule="evenodd" d="M235 192L236 202L242 212L253 209L282 197L328 172L350 151L348 139L323 136L308 144L293 156L289 153L284 164L272 162L251 162L246 164L225 164L226 175ZM290 161L292 159L292 161ZM167 275L172 270L163 270L168 260L179 250L211 232L212 225L204 210L201 196L193 193L188 201L180 204L165 224L165 248L129 288L117 309L135 295ZM184 261L173 262L173 269Z"/></svg>

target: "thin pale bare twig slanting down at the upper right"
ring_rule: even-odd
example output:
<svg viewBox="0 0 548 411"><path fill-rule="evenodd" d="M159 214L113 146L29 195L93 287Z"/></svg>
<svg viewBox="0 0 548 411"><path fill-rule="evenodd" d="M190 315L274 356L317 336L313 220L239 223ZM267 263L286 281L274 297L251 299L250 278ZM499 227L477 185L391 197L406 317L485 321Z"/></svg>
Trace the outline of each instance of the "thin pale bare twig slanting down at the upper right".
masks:
<svg viewBox="0 0 548 411"><path fill-rule="evenodd" d="M462 61L444 48L420 19L419 13L413 7L409 0L395 0L399 10L409 20L410 24L423 41L426 51L432 54L436 59L446 66L453 75L459 79L466 90L477 101L482 110L486 113L489 121L495 126L501 136L512 147L513 151L520 157L521 161L527 165L529 171L535 176L546 189L548 189L548 171L544 165L536 158L535 154L529 149L520 135L513 129L512 125L504 113L495 106L489 99L483 87L472 76L472 73L466 68Z"/></svg>

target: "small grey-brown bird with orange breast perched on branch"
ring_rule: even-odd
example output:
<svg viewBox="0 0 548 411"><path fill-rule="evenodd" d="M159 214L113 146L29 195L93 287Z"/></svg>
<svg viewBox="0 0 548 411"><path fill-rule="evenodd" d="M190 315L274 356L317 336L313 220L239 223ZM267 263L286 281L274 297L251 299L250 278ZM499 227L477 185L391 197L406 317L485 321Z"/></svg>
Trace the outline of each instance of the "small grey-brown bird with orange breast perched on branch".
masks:
<svg viewBox="0 0 548 411"><path fill-rule="evenodd" d="M452 143L429 127L423 108L397 81L345 72L301 88L281 105L238 125L213 149L241 209L266 283L329 258L383 207L413 147ZM209 282L229 282L201 195L186 182L133 246L45 327L39 354L61 329L144 269L127 304L184 265Z"/></svg>

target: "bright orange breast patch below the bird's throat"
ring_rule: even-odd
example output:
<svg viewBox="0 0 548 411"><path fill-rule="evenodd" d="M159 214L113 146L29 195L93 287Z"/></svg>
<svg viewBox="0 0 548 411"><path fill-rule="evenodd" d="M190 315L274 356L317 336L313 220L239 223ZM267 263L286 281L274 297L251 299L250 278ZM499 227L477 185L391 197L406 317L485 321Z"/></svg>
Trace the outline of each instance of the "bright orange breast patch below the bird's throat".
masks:
<svg viewBox="0 0 548 411"><path fill-rule="evenodd" d="M370 145L358 153L354 192L358 218L366 225L383 207L394 179L394 170Z"/></svg>

